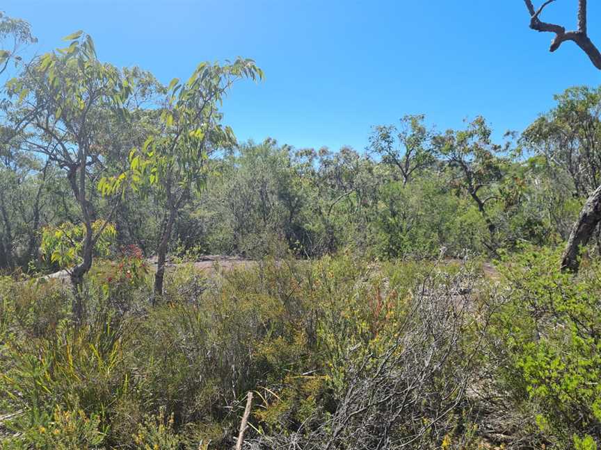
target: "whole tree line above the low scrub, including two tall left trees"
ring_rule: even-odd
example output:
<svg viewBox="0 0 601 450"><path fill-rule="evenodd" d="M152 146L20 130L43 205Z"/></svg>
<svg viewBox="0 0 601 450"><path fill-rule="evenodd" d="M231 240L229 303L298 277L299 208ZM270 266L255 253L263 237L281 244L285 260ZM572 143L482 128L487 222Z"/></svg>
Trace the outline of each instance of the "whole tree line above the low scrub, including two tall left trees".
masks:
<svg viewBox="0 0 601 450"><path fill-rule="evenodd" d="M374 126L364 153L273 139L239 144L219 106L237 81L262 78L253 60L202 63L188 81L163 86L137 67L99 63L85 33L67 38L67 48L7 85L13 106L1 183L18 195L0 196L6 270L40 268L40 228L91 229L97 220L115 224L117 248L134 244L159 256L160 276L167 253L498 256L523 242L566 239L595 185L601 127L593 89L559 95L515 141L496 142L483 117L439 133L424 115L406 115ZM90 83L78 87L81 79ZM33 113L36 120L18 128ZM82 270L91 258L82 257L93 254L84 244L72 258Z"/></svg>

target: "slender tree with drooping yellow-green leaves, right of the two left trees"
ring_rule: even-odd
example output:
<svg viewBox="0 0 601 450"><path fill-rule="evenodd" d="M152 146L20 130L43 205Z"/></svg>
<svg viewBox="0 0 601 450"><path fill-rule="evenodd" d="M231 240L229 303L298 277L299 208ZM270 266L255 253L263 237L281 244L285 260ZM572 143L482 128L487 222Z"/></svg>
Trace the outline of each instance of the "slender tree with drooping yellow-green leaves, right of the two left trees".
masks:
<svg viewBox="0 0 601 450"><path fill-rule="evenodd" d="M236 140L223 126L219 106L232 85L243 78L260 80L263 72L253 60L237 58L225 65L200 63L188 81L174 78L157 113L159 121L141 147L129 153L129 168L99 183L104 195L125 194L131 187L152 193L163 209L157 247L154 292L163 294L166 255L179 208L205 188L208 161L218 149Z"/></svg>

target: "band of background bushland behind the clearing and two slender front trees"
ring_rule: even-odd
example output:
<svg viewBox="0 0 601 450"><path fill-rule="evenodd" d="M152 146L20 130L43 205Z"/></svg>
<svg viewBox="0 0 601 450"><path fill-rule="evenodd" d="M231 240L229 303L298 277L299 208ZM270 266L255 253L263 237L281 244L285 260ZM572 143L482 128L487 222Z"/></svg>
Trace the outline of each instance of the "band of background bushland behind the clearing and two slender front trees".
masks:
<svg viewBox="0 0 601 450"><path fill-rule="evenodd" d="M415 145L403 142L415 140L418 131L383 138L376 128L366 153L298 150L274 140L221 149L205 160L201 190L185 192L166 248L175 256L319 258L353 249L370 257L407 259L436 257L442 247L447 256L461 258L465 251L497 257L500 250L514 251L524 243L561 244L599 176L598 149L581 135L591 127L595 135L601 132L600 98L598 90L568 90L558 97L556 109L503 145L492 142L492 130L481 118L460 131L423 131L427 141L419 145L428 158L407 180L380 141L392 140L402 156ZM413 120L418 130L424 127ZM4 147L0 167L6 173L0 183L12 193L0 197L0 267L7 274L56 270L78 261L86 235L67 180L51 161L23 151L26 137L21 139ZM120 164L110 154L103 158ZM105 172L86 176L99 179ZM121 176L127 184L129 176L142 175ZM87 189L95 247L102 243L94 230L109 221L115 230L113 253L135 244L147 256L156 254L170 217L159 204L162 191L141 186L115 199L103 197L95 186ZM109 188L104 183L101 189ZM42 242L57 231L61 240ZM598 242L596 233L588 254L597 253ZM61 246L62 253L53 253Z"/></svg>

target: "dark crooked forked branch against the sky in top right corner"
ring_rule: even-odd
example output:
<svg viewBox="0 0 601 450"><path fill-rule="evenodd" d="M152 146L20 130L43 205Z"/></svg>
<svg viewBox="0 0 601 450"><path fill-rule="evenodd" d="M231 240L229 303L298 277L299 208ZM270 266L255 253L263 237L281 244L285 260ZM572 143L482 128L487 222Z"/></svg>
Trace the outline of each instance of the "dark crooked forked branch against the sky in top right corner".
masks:
<svg viewBox="0 0 601 450"><path fill-rule="evenodd" d="M566 28L561 25L550 24L540 20L540 14L545 7L554 1L555 0L547 0L540 8L538 8L538 10L536 10L531 0L524 0L530 14L530 28L540 32L555 33L555 38L551 42L550 51L556 51L563 42L568 40L575 42L578 47L586 53L588 58L591 59L591 63L601 70L601 52L595 47L595 44L593 44L591 39L588 38L586 31L586 0L578 0L578 29L576 31L566 31Z"/></svg>

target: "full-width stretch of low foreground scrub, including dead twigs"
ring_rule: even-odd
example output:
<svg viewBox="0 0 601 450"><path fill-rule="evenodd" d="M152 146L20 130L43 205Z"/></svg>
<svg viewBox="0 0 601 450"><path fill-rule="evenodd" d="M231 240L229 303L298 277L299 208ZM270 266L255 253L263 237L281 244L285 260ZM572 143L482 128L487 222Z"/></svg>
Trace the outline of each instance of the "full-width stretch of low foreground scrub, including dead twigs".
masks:
<svg viewBox="0 0 601 450"><path fill-rule="evenodd" d="M77 327L63 281L2 278L1 442L227 448L251 391L253 448L594 448L599 267L556 257L180 263L156 299L126 255Z"/></svg>

